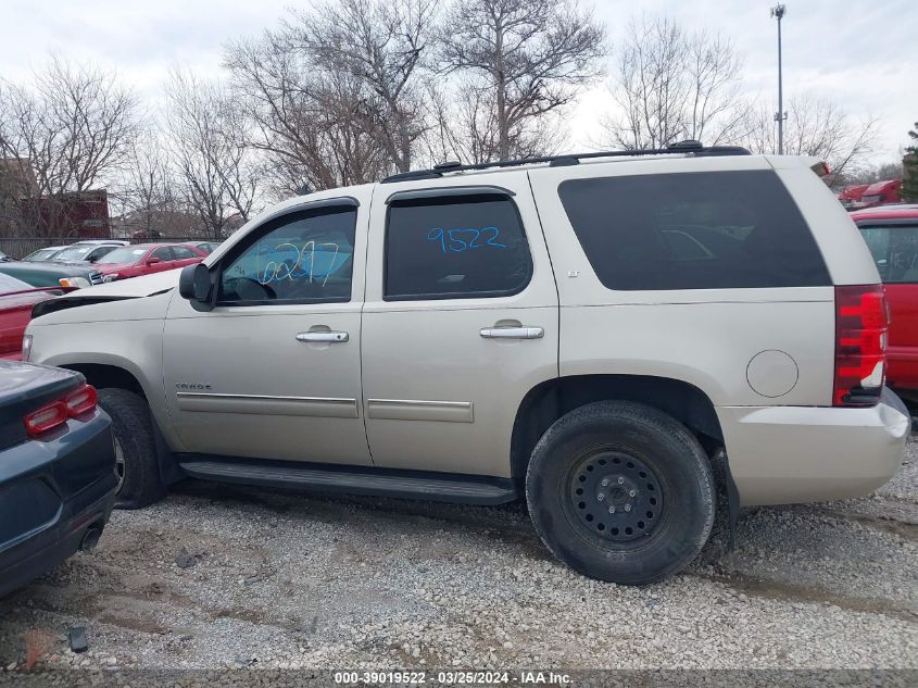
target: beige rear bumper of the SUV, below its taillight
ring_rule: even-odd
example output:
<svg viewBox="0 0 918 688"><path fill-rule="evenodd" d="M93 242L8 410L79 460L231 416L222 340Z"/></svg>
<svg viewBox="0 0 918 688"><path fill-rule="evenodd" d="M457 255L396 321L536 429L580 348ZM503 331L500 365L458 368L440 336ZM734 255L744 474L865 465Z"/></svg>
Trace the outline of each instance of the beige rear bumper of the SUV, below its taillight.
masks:
<svg viewBox="0 0 918 688"><path fill-rule="evenodd" d="M911 429L889 390L870 409L720 406L717 415L744 506L867 495L898 471Z"/></svg>

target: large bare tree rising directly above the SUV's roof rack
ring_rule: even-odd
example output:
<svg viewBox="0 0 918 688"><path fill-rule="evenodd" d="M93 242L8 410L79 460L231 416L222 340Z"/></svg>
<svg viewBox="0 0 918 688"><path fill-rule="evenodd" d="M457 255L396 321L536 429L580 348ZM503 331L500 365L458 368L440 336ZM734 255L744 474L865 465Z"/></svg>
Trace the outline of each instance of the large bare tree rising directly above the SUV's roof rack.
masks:
<svg viewBox="0 0 918 688"><path fill-rule="evenodd" d="M523 142L532 142L539 121L602 73L604 35L576 0L454 2L441 30L440 60L444 73L466 77L460 100L471 112L462 116L477 129L468 140L480 147L491 136L481 133L494 129L496 158L525 154Z"/></svg>

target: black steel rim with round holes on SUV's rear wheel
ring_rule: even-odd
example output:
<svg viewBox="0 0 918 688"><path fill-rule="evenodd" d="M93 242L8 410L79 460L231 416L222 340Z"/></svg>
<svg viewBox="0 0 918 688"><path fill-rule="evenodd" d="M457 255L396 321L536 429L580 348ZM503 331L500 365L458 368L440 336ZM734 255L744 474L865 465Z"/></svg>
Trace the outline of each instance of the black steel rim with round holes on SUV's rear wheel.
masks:
<svg viewBox="0 0 918 688"><path fill-rule="evenodd" d="M567 473L566 505L573 525L606 547L640 547L659 531L663 485L649 462L615 449L595 449Z"/></svg>

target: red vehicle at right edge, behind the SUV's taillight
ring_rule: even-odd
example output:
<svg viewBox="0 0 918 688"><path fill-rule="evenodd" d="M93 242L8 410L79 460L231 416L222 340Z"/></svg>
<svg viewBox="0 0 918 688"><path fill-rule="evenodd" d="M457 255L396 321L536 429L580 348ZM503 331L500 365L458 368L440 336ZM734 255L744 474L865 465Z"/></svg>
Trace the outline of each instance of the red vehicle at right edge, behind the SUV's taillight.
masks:
<svg viewBox="0 0 918 688"><path fill-rule="evenodd" d="M918 205L885 205L851 214L886 289L890 323L886 380L918 401Z"/></svg>

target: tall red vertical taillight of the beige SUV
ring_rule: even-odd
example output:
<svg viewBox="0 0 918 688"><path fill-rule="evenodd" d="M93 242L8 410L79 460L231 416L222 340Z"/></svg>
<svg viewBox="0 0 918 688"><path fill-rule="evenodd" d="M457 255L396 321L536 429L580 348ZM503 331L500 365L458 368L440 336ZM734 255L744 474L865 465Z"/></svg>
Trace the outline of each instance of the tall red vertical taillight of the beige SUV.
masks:
<svg viewBox="0 0 918 688"><path fill-rule="evenodd" d="M886 377L889 311L882 285L835 287L832 405L872 406Z"/></svg>

